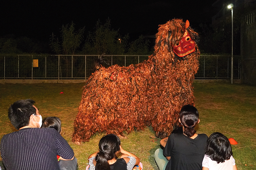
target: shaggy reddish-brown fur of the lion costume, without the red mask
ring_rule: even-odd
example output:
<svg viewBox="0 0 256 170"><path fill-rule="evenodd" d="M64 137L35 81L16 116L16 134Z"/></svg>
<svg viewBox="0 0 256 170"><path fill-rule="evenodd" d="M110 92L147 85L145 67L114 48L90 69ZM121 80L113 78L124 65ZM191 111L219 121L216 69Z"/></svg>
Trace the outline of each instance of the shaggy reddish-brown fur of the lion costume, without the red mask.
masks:
<svg viewBox="0 0 256 170"><path fill-rule="evenodd" d="M184 57L172 51L184 33L185 23L172 19L160 25L155 54L143 63L120 67L101 67L86 82L72 141L89 141L96 132L123 136L151 124L157 137L168 137L178 124L184 105L194 105L193 78L200 52ZM187 28L193 40L198 34Z"/></svg>

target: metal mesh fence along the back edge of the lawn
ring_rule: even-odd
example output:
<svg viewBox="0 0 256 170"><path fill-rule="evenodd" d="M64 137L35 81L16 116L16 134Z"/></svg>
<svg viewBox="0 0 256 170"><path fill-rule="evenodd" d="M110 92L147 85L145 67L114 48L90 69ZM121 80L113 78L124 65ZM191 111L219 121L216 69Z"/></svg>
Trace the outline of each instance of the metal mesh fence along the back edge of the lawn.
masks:
<svg viewBox="0 0 256 170"><path fill-rule="evenodd" d="M5 55L0 56L0 79L87 79L99 55ZM128 66L148 55L104 55L103 66ZM227 79L231 56L201 55L196 79ZM234 56L234 79L240 79L240 57Z"/></svg>

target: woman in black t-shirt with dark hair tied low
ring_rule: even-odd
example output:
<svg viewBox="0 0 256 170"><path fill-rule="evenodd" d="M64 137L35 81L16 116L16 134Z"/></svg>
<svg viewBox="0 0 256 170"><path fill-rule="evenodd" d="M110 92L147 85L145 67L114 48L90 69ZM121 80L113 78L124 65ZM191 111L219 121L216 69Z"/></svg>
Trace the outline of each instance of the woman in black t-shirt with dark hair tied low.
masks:
<svg viewBox="0 0 256 170"><path fill-rule="evenodd" d="M172 133L160 141L164 149L156 150L156 164L159 170L202 170L208 137L206 134L196 134L194 129L200 122L197 109L191 105L183 106L179 122L183 134Z"/></svg>

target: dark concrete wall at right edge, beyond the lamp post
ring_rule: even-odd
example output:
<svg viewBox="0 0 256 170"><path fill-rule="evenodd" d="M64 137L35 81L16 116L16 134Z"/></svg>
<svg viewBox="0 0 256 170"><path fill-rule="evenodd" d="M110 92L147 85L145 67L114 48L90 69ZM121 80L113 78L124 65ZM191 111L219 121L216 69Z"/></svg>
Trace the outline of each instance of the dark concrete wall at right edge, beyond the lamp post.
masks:
<svg viewBox="0 0 256 170"><path fill-rule="evenodd" d="M256 10L241 20L241 80L256 85Z"/></svg>

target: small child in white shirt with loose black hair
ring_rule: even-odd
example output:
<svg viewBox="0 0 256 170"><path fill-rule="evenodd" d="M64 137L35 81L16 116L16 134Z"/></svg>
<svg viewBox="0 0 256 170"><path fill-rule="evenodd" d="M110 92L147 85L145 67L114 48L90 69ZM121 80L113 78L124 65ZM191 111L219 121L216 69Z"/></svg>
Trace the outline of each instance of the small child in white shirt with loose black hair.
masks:
<svg viewBox="0 0 256 170"><path fill-rule="evenodd" d="M212 133L207 142L202 170L237 170L228 138L219 132Z"/></svg>

